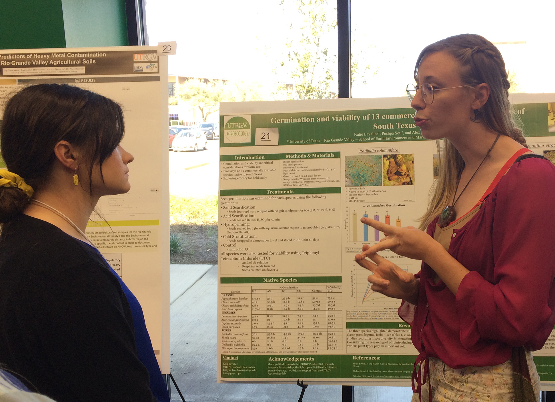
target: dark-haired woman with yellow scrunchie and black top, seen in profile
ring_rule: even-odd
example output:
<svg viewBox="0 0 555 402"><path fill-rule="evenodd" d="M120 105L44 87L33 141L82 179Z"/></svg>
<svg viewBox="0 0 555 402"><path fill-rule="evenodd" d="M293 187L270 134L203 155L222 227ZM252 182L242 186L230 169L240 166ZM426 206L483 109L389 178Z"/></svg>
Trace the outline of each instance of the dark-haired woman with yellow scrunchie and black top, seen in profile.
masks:
<svg viewBox="0 0 555 402"><path fill-rule="evenodd" d="M139 302L85 235L128 192L122 108L70 85L28 86L0 143L0 364L58 402L169 402Z"/></svg>

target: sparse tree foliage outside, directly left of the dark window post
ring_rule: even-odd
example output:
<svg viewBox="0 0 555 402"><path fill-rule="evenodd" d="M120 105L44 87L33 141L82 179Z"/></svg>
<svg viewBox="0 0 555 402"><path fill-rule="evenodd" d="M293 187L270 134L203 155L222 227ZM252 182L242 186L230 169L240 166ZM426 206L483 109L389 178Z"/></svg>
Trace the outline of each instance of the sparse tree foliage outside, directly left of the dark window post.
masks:
<svg viewBox="0 0 555 402"><path fill-rule="evenodd" d="M281 4L290 1L282 0ZM294 39L288 38L285 43L288 53L281 67L287 70L294 85L280 85L278 92L285 92L289 99L336 98L337 55L330 52L326 42L337 28L336 18L330 17L337 16L332 6L335 3L328 0L293 3L302 22L291 23L289 27Z"/></svg>

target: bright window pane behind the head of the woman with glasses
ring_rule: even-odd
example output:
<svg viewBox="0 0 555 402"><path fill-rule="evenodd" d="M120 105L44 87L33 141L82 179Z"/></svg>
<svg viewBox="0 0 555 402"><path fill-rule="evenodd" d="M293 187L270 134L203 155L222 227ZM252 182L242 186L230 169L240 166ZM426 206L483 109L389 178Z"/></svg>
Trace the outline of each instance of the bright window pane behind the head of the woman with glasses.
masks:
<svg viewBox="0 0 555 402"><path fill-rule="evenodd" d="M405 96L415 62L426 45L477 33L497 45L513 92L555 92L551 79L553 2L484 0L480 7L431 0L416 4L351 0L352 96Z"/></svg>

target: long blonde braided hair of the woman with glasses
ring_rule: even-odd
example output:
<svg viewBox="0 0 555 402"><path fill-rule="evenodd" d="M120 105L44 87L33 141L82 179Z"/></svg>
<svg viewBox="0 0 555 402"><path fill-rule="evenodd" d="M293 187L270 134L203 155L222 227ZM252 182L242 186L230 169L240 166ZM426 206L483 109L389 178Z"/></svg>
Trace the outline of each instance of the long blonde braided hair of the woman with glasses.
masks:
<svg viewBox="0 0 555 402"><path fill-rule="evenodd" d="M422 59L431 53L446 51L461 64L461 80L467 85L486 83L490 86L490 97L482 108L475 111L472 121L483 122L496 133L507 135L526 145L521 124L509 102L509 87L505 62L499 50L486 38L475 34L462 34L439 40L425 47L416 60L415 78ZM441 143L443 143L441 146ZM452 202L461 179L465 161L456 147L447 139L437 141L439 155L438 176L430 190L428 210L419 219L421 230L440 215L443 208Z"/></svg>

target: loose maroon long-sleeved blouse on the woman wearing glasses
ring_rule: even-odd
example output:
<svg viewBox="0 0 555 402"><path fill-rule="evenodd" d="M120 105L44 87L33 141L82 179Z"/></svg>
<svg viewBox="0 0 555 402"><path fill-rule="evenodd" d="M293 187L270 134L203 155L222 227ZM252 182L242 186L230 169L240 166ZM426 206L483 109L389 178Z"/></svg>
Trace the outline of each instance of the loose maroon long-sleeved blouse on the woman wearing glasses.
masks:
<svg viewBox="0 0 555 402"><path fill-rule="evenodd" d="M434 284L422 263L418 305L403 300L398 310L419 360L455 369L501 364L512 347L541 349L553 330L555 167L535 157L508 166L476 215L453 231L449 253L470 271L457 295ZM427 228L432 237L436 223Z"/></svg>

